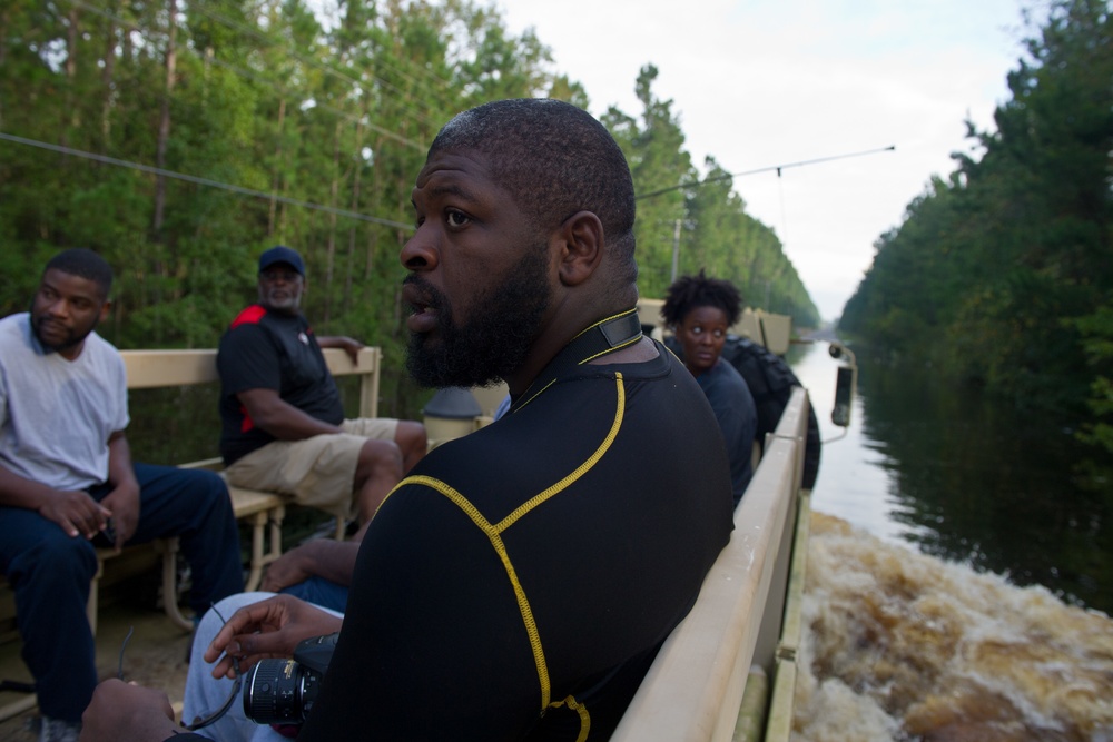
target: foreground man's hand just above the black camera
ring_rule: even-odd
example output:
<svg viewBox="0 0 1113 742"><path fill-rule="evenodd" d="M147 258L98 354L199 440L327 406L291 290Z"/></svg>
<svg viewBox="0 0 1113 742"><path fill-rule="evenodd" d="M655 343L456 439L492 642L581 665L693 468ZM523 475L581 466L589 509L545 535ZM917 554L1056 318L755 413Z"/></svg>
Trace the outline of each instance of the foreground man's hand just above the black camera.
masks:
<svg viewBox="0 0 1113 742"><path fill-rule="evenodd" d="M337 616L296 597L275 595L233 613L205 650L205 661L219 657L213 676L234 677L234 656L239 659L240 672L259 660L290 657L298 642L333 634L341 630L341 623Z"/></svg>

